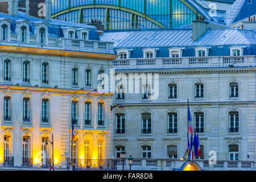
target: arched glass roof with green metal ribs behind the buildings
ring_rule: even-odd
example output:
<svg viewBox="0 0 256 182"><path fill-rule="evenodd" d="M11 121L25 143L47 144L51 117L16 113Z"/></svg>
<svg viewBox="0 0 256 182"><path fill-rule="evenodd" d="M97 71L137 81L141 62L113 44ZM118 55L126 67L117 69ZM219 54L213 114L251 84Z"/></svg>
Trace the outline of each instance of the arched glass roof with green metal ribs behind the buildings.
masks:
<svg viewBox="0 0 256 182"><path fill-rule="evenodd" d="M200 1L205 1L201 3ZM74 23L100 23L104 30L179 28L197 17L221 22L232 0L52 0L52 18Z"/></svg>

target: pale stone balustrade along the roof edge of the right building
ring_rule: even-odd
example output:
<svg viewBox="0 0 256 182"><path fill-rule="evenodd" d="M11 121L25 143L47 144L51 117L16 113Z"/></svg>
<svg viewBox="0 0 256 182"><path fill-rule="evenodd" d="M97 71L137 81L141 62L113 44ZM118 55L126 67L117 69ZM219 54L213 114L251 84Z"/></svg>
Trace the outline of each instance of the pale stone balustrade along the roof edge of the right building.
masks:
<svg viewBox="0 0 256 182"><path fill-rule="evenodd" d="M157 57L116 59L113 61L115 69L138 68L216 68L216 67L255 67L256 56L208 56L208 57Z"/></svg>

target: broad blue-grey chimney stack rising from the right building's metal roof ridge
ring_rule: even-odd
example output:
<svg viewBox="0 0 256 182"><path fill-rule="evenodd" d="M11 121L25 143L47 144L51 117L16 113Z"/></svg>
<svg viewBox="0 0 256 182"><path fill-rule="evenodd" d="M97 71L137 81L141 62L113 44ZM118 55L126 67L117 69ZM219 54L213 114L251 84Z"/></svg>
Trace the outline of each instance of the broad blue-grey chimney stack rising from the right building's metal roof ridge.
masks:
<svg viewBox="0 0 256 182"><path fill-rule="evenodd" d="M193 41L198 40L209 27L209 22L205 20L193 20Z"/></svg>

